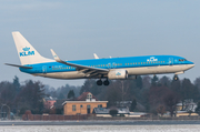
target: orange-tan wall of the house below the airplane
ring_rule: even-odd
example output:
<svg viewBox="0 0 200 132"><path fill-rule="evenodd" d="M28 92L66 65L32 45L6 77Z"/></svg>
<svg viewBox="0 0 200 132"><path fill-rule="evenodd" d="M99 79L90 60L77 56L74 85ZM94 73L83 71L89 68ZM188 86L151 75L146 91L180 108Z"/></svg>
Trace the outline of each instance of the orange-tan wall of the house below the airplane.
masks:
<svg viewBox="0 0 200 132"><path fill-rule="evenodd" d="M87 105L90 105L90 113L92 113L93 109L100 104L102 108L107 108L107 102L67 102L63 106L63 113L64 115L88 114ZM72 105L76 105L76 111L72 111Z"/></svg>

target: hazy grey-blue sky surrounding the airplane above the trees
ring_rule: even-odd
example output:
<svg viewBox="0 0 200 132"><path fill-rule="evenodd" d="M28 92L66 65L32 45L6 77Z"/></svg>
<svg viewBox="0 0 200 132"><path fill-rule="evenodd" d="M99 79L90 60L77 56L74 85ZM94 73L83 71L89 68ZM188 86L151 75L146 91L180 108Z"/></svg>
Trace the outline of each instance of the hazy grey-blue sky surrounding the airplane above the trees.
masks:
<svg viewBox="0 0 200 132"><path fill-rule="evenodd" d="M82 85L84 80L32 77L20 64L12 31L52 59L63 60L171 54L194 62L179 78L200 77L199 0L0 0L0 81L40 80L50 87ZM173 74L167 74L172 77Z"/></svg>

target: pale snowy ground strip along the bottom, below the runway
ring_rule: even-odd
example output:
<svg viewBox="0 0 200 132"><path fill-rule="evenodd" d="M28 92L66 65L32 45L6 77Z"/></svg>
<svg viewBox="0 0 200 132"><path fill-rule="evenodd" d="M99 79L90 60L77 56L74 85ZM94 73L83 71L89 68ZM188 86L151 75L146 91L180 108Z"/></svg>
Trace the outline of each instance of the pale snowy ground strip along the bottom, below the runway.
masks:
<svg viewBox="0 0 200 132"><path fill-rule="evenodd" d="M0 132L200 132L200 125L11 125Z"/></svg>

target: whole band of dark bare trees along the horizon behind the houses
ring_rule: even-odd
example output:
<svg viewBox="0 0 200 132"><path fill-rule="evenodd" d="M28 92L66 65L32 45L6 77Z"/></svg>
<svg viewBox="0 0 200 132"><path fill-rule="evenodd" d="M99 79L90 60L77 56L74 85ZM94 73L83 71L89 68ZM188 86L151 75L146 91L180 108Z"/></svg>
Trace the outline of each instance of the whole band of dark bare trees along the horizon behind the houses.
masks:
<svg viewBox="0 0 200 132"><path fill-rule="evenodd" d="M69 98L72 92L79 97L91 92L99 100L109 101L108 106L116 106L119 101L132 101L131 111L143 111L163 114L169 111L172 115L178 102L186 100L200 101L200 78L194 82L190 79L172 80L168 77L138 77L137 80L114 80L110 85L97 85L96 80L86 80L82 87L66 84L52 88L40 81L27 80L20 83L14 77L12 82L0 82L0 104L7 104L14 114L23 114L26 110L41 114L44 111L43 99L47 97L58 100ZM199 103L200 104L200 103ZM137 105L137 106L136 106ZM199 106L200 109L200 106Z"/></svg>

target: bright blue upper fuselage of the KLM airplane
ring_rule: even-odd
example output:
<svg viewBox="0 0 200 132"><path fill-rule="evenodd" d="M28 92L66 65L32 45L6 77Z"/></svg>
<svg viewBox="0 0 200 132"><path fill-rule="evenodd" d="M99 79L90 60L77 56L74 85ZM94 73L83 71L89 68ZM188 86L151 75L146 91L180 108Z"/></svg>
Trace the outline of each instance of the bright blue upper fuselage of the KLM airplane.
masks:
<svg viewBox="0 0 200 132"><path fill-rule="evenodd" d="M177 55L107 58L107 59L91 59L91 60L73 60L68 62L86 65L86 67L100 68L100 69L128 69L128 68L193 64L193 62ZM20 68L20 70L22 72L31 73L31 74L76 71L74 67L66 65L56 61L47 62L47 63L27 64L27 67L32 67L32 69Z"/></svg>

